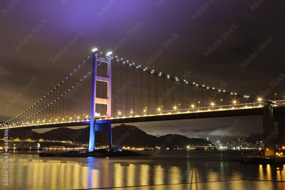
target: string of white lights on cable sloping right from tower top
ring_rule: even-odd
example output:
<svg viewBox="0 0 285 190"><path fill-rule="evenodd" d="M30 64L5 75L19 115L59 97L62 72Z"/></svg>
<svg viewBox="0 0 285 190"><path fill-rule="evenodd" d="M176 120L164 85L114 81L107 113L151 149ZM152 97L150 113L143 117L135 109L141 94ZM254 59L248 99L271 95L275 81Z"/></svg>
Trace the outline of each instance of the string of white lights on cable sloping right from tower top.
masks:
<svg viewBox="0 0 285 190"><path fill-rule="evenodd" d="M94 49L92 52L99 53L97 49ZM113 59L113 60L115 60L115 61L117 61L119 63L125 64L125 65L129 65L129 66L131 66L133 68L137 68L139 70L146 71L148 73L152 73L154 75L157 75L157 76L160 76L160 77L164 77L164 78L167 78L167 79L170 79L170 80L173 80L173 81L178 81L180 83L185 83L185 84L188 84L188 85L200 87L200 88L207 89L207 90L216 91L216 92L219 92L219 93L225 93L225 94L228 94L228 95L234 95L234 96L237 96L237 97L242 97L242 98L246 98L246 99L261 101L261 99L251 98L251 97L249 97L249 95L239 95L237 93L227 92L224 89L223 90L215 89L215 87L210 88L210 87L208 87L206 85L199 85L199 84L197 84L195 82L190 83L190 82L188 82L186 80L180 80L178 77L171 77L170 75L165 75L165 74L162 74L161 72L156 72L154 70L150 70L148 68L141 67L141 65L136 65L135 63L131 63L128 60L123 60L123 58L118 58L118 56L113 56L112 52L108 52L106 55L104 55L103 53L99 53L99 54L101 54L103 56L106 56L106 57L109 57L109 58L111 58L111 59Z"/></svg>

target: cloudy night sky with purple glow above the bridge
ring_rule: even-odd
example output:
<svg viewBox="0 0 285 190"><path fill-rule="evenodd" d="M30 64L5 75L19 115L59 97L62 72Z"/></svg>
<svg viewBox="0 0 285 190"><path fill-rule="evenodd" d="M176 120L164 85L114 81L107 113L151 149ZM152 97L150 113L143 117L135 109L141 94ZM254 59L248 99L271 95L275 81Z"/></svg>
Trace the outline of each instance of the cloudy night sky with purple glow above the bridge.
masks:
<svg viewBox="0 0 285 190"><path fill-rule="evenodd" d="M127 40L113 51L113 55L146 67L150 56L163 48L149 68L177 76L189 70L192 72L189 81L210 86L220 86L225 82L229 91L254 98L266 89L269 93L264 99L274 100L275 93L276 100L285 98L285 80L282 80L284 1L15 2L15 5L8 0L0 2L0 121L23 113L43 98L77 68L92 49L98 48L106 54L114 50L114 44L124 37ZM134 27L137 27L135 32ZM70 41L76 35L80 38L76 42ZM173 43L165 46L172 36L175 36ZM19 44L23 40L27 42ZM209 50L213 45L217 47ZM68 50L58 60L52 61L64 46L68 46ZM245 59L249 60L246 64ZM32 77L36 82L23 91L22 87ZM276 81L278 78L280 80ZM20 91L23 95L7 109L5 104ZM233 124L234 119L238 119L239 124L226 134L224 129ZM146 133L155 135L174 133L178 127L182 129L180 134L190 138L209 137L213 141L224 134L223 140L234 140L262 134L262 117L145 122L139 125Z"/></svg>

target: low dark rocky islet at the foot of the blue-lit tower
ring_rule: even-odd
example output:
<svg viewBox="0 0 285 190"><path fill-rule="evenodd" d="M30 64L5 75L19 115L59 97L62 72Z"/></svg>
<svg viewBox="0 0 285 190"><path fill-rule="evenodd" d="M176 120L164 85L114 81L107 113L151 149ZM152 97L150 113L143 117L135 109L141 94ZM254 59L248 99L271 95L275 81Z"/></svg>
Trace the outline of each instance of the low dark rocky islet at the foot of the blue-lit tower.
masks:
<svg viewBox="0 0 285 190"><path fill-rule="evenodd" d="M69 151L69 152L57 152L57 153L40 153L39 156L63 156L63 157L108 157L108 156L149 156L148 154L143 154L141 152L133 152L130 150L122 151L106 151L106 149L99 149L92 152L79 152L79 151Z"/></svg>

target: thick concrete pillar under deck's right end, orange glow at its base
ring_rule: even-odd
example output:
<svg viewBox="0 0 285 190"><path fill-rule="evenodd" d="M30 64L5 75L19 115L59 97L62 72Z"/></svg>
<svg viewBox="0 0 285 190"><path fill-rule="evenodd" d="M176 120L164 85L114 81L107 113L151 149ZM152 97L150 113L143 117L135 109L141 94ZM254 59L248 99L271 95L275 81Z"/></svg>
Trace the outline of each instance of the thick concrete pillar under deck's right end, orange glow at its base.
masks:
<svg viewBox="0 0 285 190"><path fill-rule="evenodd" d="M275 156L275 135L273 123L273 109L264 106L262 110L264 155Z"/></svg>

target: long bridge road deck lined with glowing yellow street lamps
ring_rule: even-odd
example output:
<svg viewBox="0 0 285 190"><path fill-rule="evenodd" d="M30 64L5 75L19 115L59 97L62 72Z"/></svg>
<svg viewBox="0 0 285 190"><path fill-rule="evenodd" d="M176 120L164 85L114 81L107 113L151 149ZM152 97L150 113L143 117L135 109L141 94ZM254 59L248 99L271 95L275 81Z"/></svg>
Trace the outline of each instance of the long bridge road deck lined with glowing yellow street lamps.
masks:
<svg viewBox="0 0 285 190"><path fill-rule="evenodd" d="M149 121L166 121L166 120L184 120L184 119L202 119L202 118L217 118L217 117L239 117L239 116L251 116L262 115L262 106L258 107L239 107L231 109L215 109L215 110L199 110L192 112L174 112L174 113L160 113L154 115L141 115L134 117L117 117L109 119L97 119L96 124L116 124L116 123L135 123L135 122L149 122ZM196 109L197 110L197 109ZM273 113L285 115L285 107L274 106ZM40 129L40 128L57 128L57 127L71 127L71 126L88 126L90 120L82 120L76 122L58 122L47 123L40 125L26 125L10 127L10 130L28 130L28 129ZM0 131L4 131L4 128L0 128Z"/></svg>

